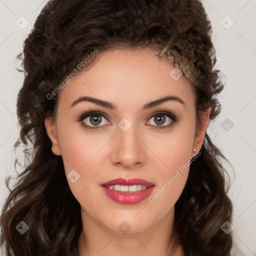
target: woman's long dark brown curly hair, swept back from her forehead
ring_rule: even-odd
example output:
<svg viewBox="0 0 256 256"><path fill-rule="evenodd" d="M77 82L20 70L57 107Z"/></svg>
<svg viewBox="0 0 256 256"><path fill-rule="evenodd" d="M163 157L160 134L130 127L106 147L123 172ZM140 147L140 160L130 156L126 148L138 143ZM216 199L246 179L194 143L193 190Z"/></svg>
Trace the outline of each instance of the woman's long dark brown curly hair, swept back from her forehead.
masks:
<svg viewBox="0 0 256 256"><path fill-rule="evenodd" d="M45 117L55 116L60 93L50 100L47 95L94 49L153 48L192 82L197 120L207 107L213 120L220 112L217 94L224 85L221 72L213 69L211 34L199 0L48 1L18 56L24 82L17 97L21 130L14 148L25 146L28 163L12 189L10 177L5 180L10 194L1 213L0 244L7 256L78 255L80 205L69 189L61 156L51 151L44 126ZM181 244L186 256L227 256L232 236L220 227L232 216L228 173L221 164L228 160L207 133L200 152L175 204L174 244ZM20 220L34 228L20 235L15 229Z"/></svg>

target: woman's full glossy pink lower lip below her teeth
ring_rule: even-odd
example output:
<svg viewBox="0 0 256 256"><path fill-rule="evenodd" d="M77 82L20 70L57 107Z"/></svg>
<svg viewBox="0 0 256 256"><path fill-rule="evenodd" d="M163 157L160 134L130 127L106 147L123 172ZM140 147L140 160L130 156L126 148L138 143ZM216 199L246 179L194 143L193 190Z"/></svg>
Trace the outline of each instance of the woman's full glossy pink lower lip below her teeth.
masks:
<svg viewBox="0 0 256 256"><path fill-rule="evenodd" d="M115 202L134 204L144 200L153 191L154 185L136 192L121 192L102 186L105 194Z"/></svg>

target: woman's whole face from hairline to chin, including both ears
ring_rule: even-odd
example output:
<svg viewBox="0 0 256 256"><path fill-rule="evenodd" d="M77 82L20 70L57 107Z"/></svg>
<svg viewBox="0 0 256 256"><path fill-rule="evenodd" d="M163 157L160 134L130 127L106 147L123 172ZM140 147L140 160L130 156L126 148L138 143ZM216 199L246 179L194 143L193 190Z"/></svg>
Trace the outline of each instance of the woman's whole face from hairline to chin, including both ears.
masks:
<svg viewBox="0 0 256 256"><path fill-rule="evenodd" d="M196 129L193 87L173 68L151 50L115 49L62 88L45 127L88 221L140 232L173 216L209 114Z"/></svg>

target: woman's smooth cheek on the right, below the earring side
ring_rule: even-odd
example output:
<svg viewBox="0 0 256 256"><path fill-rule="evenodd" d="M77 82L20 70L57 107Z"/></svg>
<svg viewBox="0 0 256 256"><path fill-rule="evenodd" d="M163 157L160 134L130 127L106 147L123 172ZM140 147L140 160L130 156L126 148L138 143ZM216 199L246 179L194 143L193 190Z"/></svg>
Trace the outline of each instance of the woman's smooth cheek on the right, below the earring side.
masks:
<svg viewBox="0 0 256 256"><path fill-rule="evenodd" d="M149 201L154 209L161 208L164 215L178 200L186 184L190 167L191 146L193 143L193 129L189 125L179 126L167 137L161 139L155 154L161 160L156 161L155 169L158 172L158 183ZM163 164L164 163L164 164Z"/></svg>

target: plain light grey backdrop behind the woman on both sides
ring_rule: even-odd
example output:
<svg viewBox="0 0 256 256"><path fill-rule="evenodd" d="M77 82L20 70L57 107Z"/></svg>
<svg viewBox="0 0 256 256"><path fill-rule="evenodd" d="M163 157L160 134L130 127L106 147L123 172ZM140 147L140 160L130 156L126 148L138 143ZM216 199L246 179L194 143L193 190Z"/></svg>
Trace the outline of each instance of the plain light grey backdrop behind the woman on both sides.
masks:
<svg viewBox="0 0 256 256"><path fill-rule="evenodd" d="M15 175L13 144L19 135L16 96L23 73L16 55L47 1L0 0L0 209ZM207 129L231 162L228 193L233 202L233 237L246 256L256 255L256 0L202 0L213 28L217 64L226 76L222 111ZM239 255L234 251L234 255Z"/></svg>

